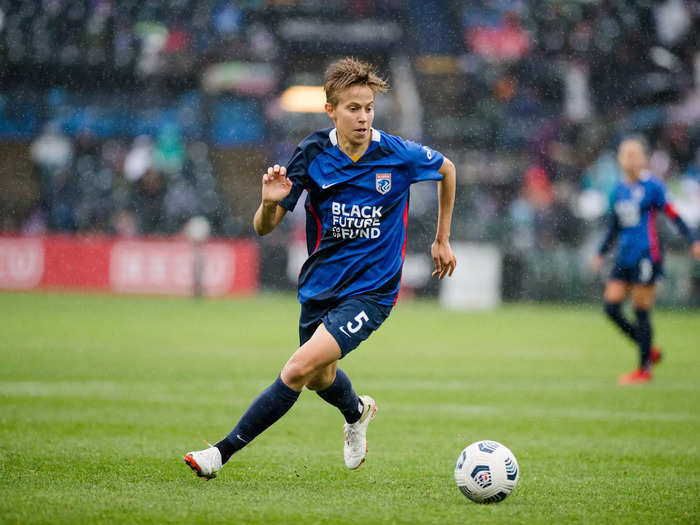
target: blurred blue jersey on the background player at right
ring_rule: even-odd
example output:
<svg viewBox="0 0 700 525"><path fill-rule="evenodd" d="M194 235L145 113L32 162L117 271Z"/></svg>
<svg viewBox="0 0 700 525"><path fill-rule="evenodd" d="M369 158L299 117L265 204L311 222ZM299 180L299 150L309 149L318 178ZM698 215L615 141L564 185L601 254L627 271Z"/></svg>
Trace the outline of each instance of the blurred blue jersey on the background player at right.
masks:
<svg viewBox="0 0 700 525"><path fill-rule="evenodd" d="M615 261L617 265L629 268L640 259L660 263L661 243L656 227L659 212L666 213L675 221L688 242L693 241L692 232L667 202L666 189L659 179L643 173L634 183L619 183L612 193L610 227L601 244L600 253L609 249L619 233Z"/></svg>

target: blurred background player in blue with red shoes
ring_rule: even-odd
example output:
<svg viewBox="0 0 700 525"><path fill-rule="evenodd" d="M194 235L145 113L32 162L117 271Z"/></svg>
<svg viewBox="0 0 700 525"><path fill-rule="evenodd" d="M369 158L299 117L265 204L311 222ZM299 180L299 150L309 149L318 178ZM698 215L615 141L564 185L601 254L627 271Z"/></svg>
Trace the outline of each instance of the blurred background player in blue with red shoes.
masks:
<svg viewBox="0 0 700 525"><path fill-rule="evenodd" d="M666 199L663 183L646 171L647 154L643 138L624 140L617 160L624 173L612 195L612 210L607 233L593 258L599 271L603 255L619 235L615 263L605 285L605 313L639 348L639 368L618 378L621 385L651 381L651 365L661 360L661 352L652 346L649 314L656 296L656 280L662 276L662 251L656 233L656 215L664 212L673 219L691 245L691 253L700 260L700 242ZM631 293L637 322L631 323L621 305Z"/></svg>

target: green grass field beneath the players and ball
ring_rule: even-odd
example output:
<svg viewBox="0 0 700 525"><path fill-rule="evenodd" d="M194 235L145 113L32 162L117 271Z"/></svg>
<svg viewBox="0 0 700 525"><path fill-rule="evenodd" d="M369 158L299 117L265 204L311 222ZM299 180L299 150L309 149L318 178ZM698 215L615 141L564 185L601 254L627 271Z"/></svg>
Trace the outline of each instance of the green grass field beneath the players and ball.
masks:
<svg viewBox="0 0 700 525"><path fill-rule="evenodd" d="M377 400L369 455L312 392L205 482L215 441L295 349L291 296L0 295L0 522L697 523L700 312L659 312L654 382L594 307L399 304L342 362ZM477 505L457 455L507 445L516 491Z"/></svg>

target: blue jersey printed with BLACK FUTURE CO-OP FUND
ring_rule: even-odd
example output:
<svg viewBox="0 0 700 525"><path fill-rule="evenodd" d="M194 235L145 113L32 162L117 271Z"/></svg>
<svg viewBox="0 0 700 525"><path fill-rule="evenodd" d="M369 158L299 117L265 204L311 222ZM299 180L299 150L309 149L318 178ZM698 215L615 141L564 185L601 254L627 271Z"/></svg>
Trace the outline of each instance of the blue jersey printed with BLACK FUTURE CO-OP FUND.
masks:
<svg viewBox="0 0 700 525"><path fill-rule="evenodd" d="M292 182L280 202L293 210L304 190L309 258L299 273L299 301L368 294L396 301L406 253L409 188L440 180L444 157L427 146L372 129L369 148L353 161L334 128L314 133L287 166Z"/></svg>

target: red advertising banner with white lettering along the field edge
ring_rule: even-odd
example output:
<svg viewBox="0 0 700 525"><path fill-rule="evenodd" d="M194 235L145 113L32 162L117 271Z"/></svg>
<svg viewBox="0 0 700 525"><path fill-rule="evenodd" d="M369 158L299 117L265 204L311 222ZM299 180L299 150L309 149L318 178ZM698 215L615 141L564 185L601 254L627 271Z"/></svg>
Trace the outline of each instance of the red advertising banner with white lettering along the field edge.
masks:
<svg viewBox="0 0 700 525"><path fill-rule="evenodd" d="M0 236L0 289L68 288L126 294L211 296L258 289L252 241Z"/></svg>

